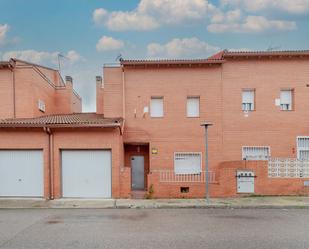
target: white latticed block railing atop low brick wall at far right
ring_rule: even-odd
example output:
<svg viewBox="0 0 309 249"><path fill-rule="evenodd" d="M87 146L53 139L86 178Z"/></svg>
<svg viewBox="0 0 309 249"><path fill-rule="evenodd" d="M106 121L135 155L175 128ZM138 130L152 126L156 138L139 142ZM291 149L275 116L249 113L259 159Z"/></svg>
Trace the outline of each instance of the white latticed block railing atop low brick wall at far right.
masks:
<svg viewBox="0 0 309 249"><path fill-rule="evenodd" d="M269 158L268 177L309 178L309 160L296 158Z"/></svg>

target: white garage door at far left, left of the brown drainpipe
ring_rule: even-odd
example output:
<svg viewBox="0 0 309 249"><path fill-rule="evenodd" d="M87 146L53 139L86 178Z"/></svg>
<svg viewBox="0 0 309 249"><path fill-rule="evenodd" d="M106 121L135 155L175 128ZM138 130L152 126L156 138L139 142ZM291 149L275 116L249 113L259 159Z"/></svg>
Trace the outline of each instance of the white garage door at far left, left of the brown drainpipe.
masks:
<svg viewBox="0 0 309 249"><path fill-rule="evenodd" d="M43 197L42 150L0 150L0 196Z"/></svg>

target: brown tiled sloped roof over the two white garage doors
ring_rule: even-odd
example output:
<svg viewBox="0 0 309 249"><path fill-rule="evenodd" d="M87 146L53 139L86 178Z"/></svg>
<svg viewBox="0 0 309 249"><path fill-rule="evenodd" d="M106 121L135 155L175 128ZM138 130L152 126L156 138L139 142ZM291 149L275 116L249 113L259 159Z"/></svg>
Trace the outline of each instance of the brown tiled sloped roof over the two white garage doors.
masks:
<svg viewBox="0 0 309 249"><path fill-rule="evenodd" d="M46 115L37 118L13 118L0 120L2 127L120 127L122 118L104 118L103 114L74 113Z"/></svg>

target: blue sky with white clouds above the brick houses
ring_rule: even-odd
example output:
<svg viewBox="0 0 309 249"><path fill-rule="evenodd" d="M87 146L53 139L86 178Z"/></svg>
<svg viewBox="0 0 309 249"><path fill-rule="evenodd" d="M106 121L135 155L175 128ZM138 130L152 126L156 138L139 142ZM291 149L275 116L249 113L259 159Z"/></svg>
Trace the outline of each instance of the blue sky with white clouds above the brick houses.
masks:
<svg viewBox="0 0 309 249"><path fill-rule="evenodd" d="M309 49L309 0L0 0L0 59L71 75L83 110L95 76L124 58L205 58L220 49Z"/></svg>

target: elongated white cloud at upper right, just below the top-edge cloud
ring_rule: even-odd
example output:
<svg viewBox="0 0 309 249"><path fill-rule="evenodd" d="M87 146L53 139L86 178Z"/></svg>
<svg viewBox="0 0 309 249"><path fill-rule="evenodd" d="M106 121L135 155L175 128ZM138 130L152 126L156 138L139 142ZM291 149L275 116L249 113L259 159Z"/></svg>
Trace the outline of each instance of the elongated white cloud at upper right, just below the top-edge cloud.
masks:
<svg viewBox="0 0 309 249"><path fill-rule="evenodd" d="M209 24L207 29L212 33L260 33L264 31L290 31L297 28L293 21L269 20L264 16L246 16L240 15L232 18L226 15L220 22Z"/></svg>

